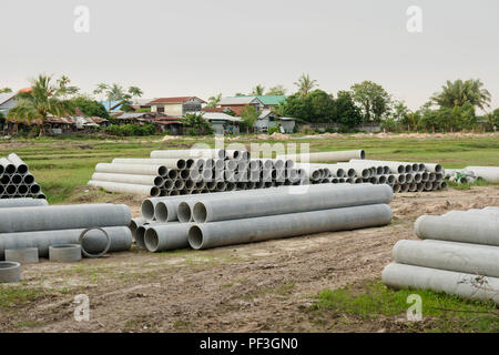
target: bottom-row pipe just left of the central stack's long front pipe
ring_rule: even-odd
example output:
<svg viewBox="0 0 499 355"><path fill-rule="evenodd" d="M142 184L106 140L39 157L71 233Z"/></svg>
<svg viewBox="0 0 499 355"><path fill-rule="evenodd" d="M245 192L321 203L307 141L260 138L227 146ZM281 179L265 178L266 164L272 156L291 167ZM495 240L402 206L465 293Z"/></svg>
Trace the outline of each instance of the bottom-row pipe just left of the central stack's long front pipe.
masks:
<svg viewBox="0 0 499 355"><path fill-rule="evenodd" d="M145 232L144 244L151 253L189 247L192 223L153 224Z"/></svg>

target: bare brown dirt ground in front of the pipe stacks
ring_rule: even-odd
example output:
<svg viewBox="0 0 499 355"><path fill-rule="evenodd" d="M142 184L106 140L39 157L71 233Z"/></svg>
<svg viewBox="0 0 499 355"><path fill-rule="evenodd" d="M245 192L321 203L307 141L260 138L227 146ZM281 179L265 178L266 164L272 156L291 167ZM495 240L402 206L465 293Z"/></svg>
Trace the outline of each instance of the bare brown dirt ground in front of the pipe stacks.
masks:
<svg viewBox="0 0 499 355"><path fill-rule="evenodd" d="M139 203L132 200L139 215ZM400 321L364 321L310 312L325 288L378 278L391 247L416 239L421 214L499 206L497 186L396 195L385 227L151 254L112 254L75 264L42 261L22 270L23 290L42 290L0 308L1 332L394 332ZM13 285L0 285L0 292ZM86 294L90 321L75 322L73 298Z"/></svg>

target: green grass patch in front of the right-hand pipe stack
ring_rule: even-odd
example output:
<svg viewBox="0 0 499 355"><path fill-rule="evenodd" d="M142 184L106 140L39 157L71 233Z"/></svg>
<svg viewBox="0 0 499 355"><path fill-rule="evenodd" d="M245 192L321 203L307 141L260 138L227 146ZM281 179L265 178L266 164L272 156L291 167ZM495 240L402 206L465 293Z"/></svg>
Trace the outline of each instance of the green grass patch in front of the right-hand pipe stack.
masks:
<svg viewBox="0 0 499 355"><path fill-rule="evenodd" d="M467 301L457 296L426 290L387 288L380 281L361 286L325 290L315 296L313 314L348 314L364 320L406 317L407 297L418 294L422 301L426 332L498 332L499 311L493 303ZM410 328L410 323L408 323Z"/></svg>

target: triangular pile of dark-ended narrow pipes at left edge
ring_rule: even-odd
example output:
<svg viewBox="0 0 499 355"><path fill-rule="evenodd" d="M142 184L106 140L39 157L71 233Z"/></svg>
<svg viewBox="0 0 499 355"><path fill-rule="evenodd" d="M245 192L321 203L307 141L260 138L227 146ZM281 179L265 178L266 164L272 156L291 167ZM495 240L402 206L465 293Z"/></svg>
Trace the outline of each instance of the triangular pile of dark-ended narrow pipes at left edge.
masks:
<svg viewBox="0 0 499 355"><path fill-rule="evenodd" d="M0 199L45 199L28 165L16 154L0 158Z"/></svg>

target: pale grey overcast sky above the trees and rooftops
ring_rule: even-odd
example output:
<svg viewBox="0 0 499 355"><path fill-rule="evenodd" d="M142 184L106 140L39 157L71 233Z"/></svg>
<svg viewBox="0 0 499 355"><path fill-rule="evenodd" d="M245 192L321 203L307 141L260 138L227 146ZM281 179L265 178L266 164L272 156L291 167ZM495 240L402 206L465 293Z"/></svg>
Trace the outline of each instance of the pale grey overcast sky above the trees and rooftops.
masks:
<svg viewBox="0 0 499 355"><path fill-rule="evenodd" d="M207 100L292 93L308 73L335 95L371 80L417 109L447 80L479 78L498 108L498 16L497 0L1 0L0 88L50 73L88 93L118 82Z"/></svg>

